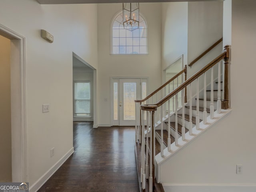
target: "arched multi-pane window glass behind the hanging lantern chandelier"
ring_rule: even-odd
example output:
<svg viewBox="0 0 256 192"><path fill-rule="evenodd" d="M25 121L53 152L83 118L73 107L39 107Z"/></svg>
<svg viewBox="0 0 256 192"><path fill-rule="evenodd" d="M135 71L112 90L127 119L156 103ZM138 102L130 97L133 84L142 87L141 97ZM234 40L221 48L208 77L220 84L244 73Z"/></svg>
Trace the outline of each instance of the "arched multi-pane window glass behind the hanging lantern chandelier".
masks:
<svg viewBox="0 0 256 192"><path fill-rule="evenodd" d="M133 31L124 29L123 13L112 22L112 54L147 54L147 24L140 14L139 28Z"/></svg>

